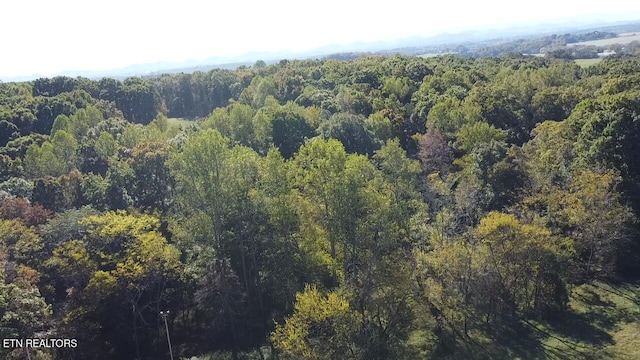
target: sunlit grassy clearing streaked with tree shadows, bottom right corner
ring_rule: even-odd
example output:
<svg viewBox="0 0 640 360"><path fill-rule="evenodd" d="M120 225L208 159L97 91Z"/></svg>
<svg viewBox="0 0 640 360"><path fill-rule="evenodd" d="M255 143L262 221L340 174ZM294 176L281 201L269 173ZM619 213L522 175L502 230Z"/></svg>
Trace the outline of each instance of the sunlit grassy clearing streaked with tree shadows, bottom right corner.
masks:
<svg viewBox="0 0 640 360"><path fill-rule="evenodd" d="M453 345L454 358L640 359L640 284L577 286L568 305L562 318L474 331Z"/></svg>

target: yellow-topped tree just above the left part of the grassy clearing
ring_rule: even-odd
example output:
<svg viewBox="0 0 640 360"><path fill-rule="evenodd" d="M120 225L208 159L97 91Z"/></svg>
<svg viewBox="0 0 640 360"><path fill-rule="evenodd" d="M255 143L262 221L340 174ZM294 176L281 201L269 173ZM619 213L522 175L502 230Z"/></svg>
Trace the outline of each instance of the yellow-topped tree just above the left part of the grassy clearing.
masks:
<svg viewBox="0 0 640 360"><path fill-rule="evenodd" d="M497 281L497 310L564 309L563 264L573 242L548 229L521 223L512 214L491 212L476 228L477 256L484 272Z"/></svg>

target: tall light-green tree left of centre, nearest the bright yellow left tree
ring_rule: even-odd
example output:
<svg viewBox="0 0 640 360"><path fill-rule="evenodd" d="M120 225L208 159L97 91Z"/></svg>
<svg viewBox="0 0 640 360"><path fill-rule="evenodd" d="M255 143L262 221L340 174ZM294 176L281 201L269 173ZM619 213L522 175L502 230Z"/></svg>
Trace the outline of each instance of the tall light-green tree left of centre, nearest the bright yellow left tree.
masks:
<svg viewBox="0 0 640 360"><path fill-rule="evenodd" d="M176 179L179 211L172 231L191 264L189 274L201 279L197 306L204 321L223 321L208 333L224 334L225 347L236 351L257 346L272 322L263 280L274 272L264 263L275 259L265 260L273 255L263 243L270 237L258 190L261 159L229 143L216 130L197 132L170 155L168 167ZM221 298L218 291L237 301ZM216 303L224 307L212 307Z"/></svg>

